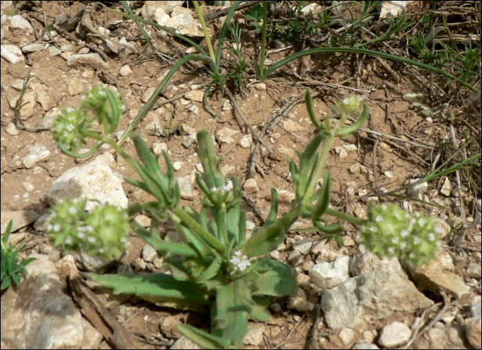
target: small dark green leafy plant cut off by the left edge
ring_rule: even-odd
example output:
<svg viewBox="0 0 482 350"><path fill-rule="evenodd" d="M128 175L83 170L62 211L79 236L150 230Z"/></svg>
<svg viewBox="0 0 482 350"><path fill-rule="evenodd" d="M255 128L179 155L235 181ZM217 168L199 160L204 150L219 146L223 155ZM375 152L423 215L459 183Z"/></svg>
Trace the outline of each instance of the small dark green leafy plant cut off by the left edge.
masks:
<svg viewBox="0 0 482 350"><path fill-rule="evenodd" d="M27 273L27 266L35 260L35 258L25 259L19 263L19 252L21 247L14 250L12 243L8 243L8 237L12 230L13 220L10 220L5 231L5 235L0 240L1 242L1 290L7 289L10 285L15 283L19 285L22 274Z"/></svg>

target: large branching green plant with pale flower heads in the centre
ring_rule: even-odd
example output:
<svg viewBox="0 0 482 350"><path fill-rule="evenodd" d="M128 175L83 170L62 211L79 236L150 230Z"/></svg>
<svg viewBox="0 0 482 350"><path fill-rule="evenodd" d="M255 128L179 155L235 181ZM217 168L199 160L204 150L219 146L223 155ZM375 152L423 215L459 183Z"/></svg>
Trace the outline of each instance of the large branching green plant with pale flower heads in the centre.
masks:
<svg viewBox="0 0 482 350"><path fill-rule="evenodd" d="M170 274L85 276L112 288L114 294L136 294L153 303L210 314L211 333L190 325L179 325L178 330L202 347L239 349L250 318L269 320L267 296L297 293L291 267L271 259L269 252L284 241L285 233L298 217L311 219L316 228L327 233L326 238L344 231L339 223L326 225L326 215L355 225L369 224L369 221L328 207L331 198L329 171L324 173L323 186L315 190L331 142L336 136L346 137L362 127L368 117L368 105L358 96L347 96L333 106L333 112L339 117L334 127L329 118L324 123L319 122L308 91L306 105L318 132L303 152L297 151L299 162L289 160L295 200L288 212L277 217L279 200L277 191L272 189L269 216L264 226L255 228L248 239L246 212L240 206L240 182L235 176L227 182L220 171L222 158L216 155L209 131L197 134L196 152L203 166L203 172L196 173L202 192L202 208L197 211L190 206L180 206L180 189L167 153L163 153L167 165L163 173L158 164L159 155L153 155L139 135L132 136L139 160L134 160L115 142L113 133L124 111L123 102L111 89L94 87L83 98L81 109L65 109L55 120L54 140L64 153L76 157L81 156L74 152L82 146L84 138L98 140L93 149L104 142L109 144L140 177L126 177L125 181L153 195L155 200L134 203L125 211L101 204L92 212L85 212L85 199L66 199L52 210L48 231L54 245L67 250L83 250L105 259L118 259L121 251L127 248L129 222L132 230L164 257L165 268ZM94 117L90 113L94 113ZM348 118L357 120L346 126ZM90 129L92 120L104 124L105 135ZM321 153L317 151L320 146ZM134 220L133 215L140 212L151 217L149 229ZM380 215L384 212L375 215L375 222L379 222ZM174 224L182 243L160 237L160 224L167 220ZM397 223L397 227L401 224ZM431 226L421 229L430 230ZM431 236L421 235L421 239L425 237ZM427 244L439 243L436 239Z"/></svg>

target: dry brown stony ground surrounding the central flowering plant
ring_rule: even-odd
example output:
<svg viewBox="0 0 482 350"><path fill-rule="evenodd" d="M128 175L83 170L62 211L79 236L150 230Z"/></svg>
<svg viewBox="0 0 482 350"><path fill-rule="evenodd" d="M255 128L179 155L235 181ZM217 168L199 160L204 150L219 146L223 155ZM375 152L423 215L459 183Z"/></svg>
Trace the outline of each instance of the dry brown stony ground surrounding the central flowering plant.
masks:
<svg viewBox="0 0 482 350"><path fill-rule="evenodd" d="M85 6L90 6L80 2L65 6L64 3L43 3L43 11L49 21L61 13L68 17L74 16ZM94 25L121 20L121 17L105 8L93 6L90 11ZM6 11L2 10L3 12ZM121 261L99 267L95 261L86 262L86 258L82 256L76 256L75 259L72 255L64 256L52 247L48 237L44 235L45 214L55 200L50 197L49 190L59 177L72 168L81 168L94 162L107 166L112 169L113 177L112 180L103 181L119 181L129 205L134 201L151 200L148 194L120 180L123 177L136 178L136 175L121 157L112 156L109 152L111 150L102 148L92 157L74 160L57 149L48 129L54 118L52 116L58 111L80 104L83 91L96 84L107 83L119 89L127 104L128 112L118 127L120 131L125 130L169 70L169 62L160 60L149 51L144 42L134 41L128 36L127 40L132 39L131 43L136 47L136 52L129 56L112 53L107 56L106 62L98 65L68 64L72 54L88 54L92 51L59 34L56 36L56 46L60 52L56 54L51 50L54 45L50 38L44 36L41 23L32 20L36 28L34 34L34 30L29 30L28 26L27 29L21 29L12 25L14 17L2 16L2 45L16 45L21 48L26 44L40 43L43 48L21 54L23 58L19 63L1 59L1 233L3 235L8 221L14 217L16 226L10 241L16 246L25 244L19 254L21 259L36 256L37 261L30 265L30 274L22 285L2 292L2 349L44 347L55 338L56 329L59 332L64 331L62 327L66 323L74 325L72 327L76 329L71 330L68 340L57 334L58 338L55 339L59 343L56 343L56 347L68 345L85 349L109 349L132 345L145 349L195 348L196 345L181 337L176 325L189 322L197 327L209 328L207 316L160 307L132 296L108 297L105 289L92 283L88 286L85 283L72 285L72 276L77 266L83 270L101 270L103 273L163 271L162 256L157 256L149 246L146 247L140 237L132 234L128 254L123 256ZM18 18L15 20L19 21ZM132 25L131 21L123 21ZM121 27L124 24L118 22L115 25ZM245 35L247 55L254 58L254 47L249 46L250 41L255 39L253 31L246 30ZM158 47L168 56L178 55L163 36L159 34L154 38ZM50 47L45 46L47 43L50 43ZM98 44L100 43L92 43ZM278 56L271 59L277 61L283 54L285 53L277 53L275 55ZM240 179L249 201L255 204L261 215L266 217L269 212L270 190L273 187L280 192L280 215L286 212L293 199L293 185L284 157L295 157L295 150L303 150L315 133L304 105L303 96L307 87L313 89L315 109L321 119L331 116L328 105L337 102L345 94L360 94L370 106L370 118L364 125L366 129L346 140L335 140L328 156L326 167L333 175L332 206L357 217L365 217L368 202L366 195L397 188L408 184L410 179L426 174L431 165L430 153L450 135L448 124L437 118L421 116L406 98L410 96L407 94L420 91L428 94L428 80L421 76L421 84L412 75L400 73L400 81L397 83L397 79L390 72L381 68L374 69L373 61L360 62L364 65L362 72L365 74L355 78L355 60L327 66L324 59L323 56L306 59L308 72L325 72L322 80L309 79L308 83L305 80L306 84L300 83L296 78L298 67L293 63L290 69L295 73L285 69L279 74L273 74L266 82L256 80L251 74L243 87L243 93L237 94L238 105L255 130L262 130L273 115L280 117L280 121L275 127L268 129L264 137L276 156L261 147L251 178L248 178L248 174L256 140L244 125L240 127L236 122L238 116L231 102L220 91L210 96L211 107L218 113L218 117L213 118L202 107L201 99L206 89L205 83L209 79L202 67L191 65L176 73L171 80L172 86L140 122L136 132L145 138L154 152L167 150L176 168L176 176L187 184L183 204L200 208L199 193L196 182L193 181L194 173L200 164L194 152L196 139L193 133L205 128L214 135L218 154L224 157L224 173L227 177L236 175ZM24 102L28 104L21 109L18 127L15 127L14 114L8 108L7 100L14 103L19 98L23 80L28 76L31 81L24 98ZM174 106L174 124L181 120L184 122L176 134L167 139L160 135L160 131L169 126ZM416 140L419 146L405 142L408 140L407 135ZM87 148L92 146L90 143ZM135 155L132 142L126 142L124 149L130 155ZM162 168L165 170L164 164ZM94 193L98 191L101 195L103 188L97 188L98 185L90 186L94 188ZM107 185L106 183L105 186ZM405 208L421 210L434 217L447 234L450 232L450 215L454 215L459 222L462 220L461 207L457 206L459 192L452 190L455 186L455 178L449 175L408 193L437 204L441 206L440 209L415 201L397 201ZM192 188L191 192L189 187ZM386 197L371 198L378 198L381 202L390 200ZM390 343L390 340L386 340L388 336L406 335L408 331L410 338L413 333L423 328L423 325L434 319L434 325L430 325L428 331L415 339L409 345L410 348L472 349L476 347L477 340L480 348L481 226L474 222L475 218L472 216L476 211L473 210L476 206L474 195L463 192L463 203L462 208L466 210L463 213L465 220L474 225L469 225L466 230L461 250L454 250L447 245L439 261L426 271L408 270L396 259L379 261L359 247L356 242L357 230L348 224L345 246L342 248L335 241L321 241L320 232L293 231L287 234L280 248L271 252L271 257L293 267L300 287L299 293L291 298L271 300L271 322L250 322L250 331L245 338L246 349L393 347L393 344L399 346L403 343ZM244 201L243 205L248 211L247 219L251 229L260 226L260 217L253 208L247 201ZM149 226L147 217L140 215L138 221ZM308 226L308 222L300 220L293 228ZM166 225L161 234L173 234L173 230L173 226ZM323 275L319 272L323 268L329 271L337 271L339 268L341 272L333 276ZM380 271L381 274L378 273ZM337 278L337 283L328 282ZM359 292L350 289L350 285L346 283L349 280L365 286L366 289L363 290L367 294L373 293L370 294L372 300L350 299L350 293L355 296ZM35 294L35 286L46 284L50 288L48 293ZM332 298L332 308L324 305L322 292L335 289L338 284L343 284L344 292L323 294L326 300ZM439 289L443 291L443 296L437 292ZM53 300L49 299L50 304L45 303L41 307L39 305L43 304L39 300L42 298ZM37 300L33 303L39 305L29 305L28 300ZM76 304L73 300L76 300ZM95 304L93 300L97 300L102 307L92 307ZM410 301L405 303L406 300ZM54 305L63 305L64 310L71 311L67 314L55 314L54 310L57 308ZM78 312L79 309L85 317ZM349 317L335 320L334 314L347 314ZM52 328L48 331L41 327L48 323L47 315L56 318L49 323ZM112 341L112 338L109 340L109 331L92 320L99 315L103 318L103 325L107 322L116 336L122 336L115 341ZM21 322L28 320L30 323L25 327ZM39 338L39 334L46 338ZM48 338L49 336L52 338Z"/></svg>

